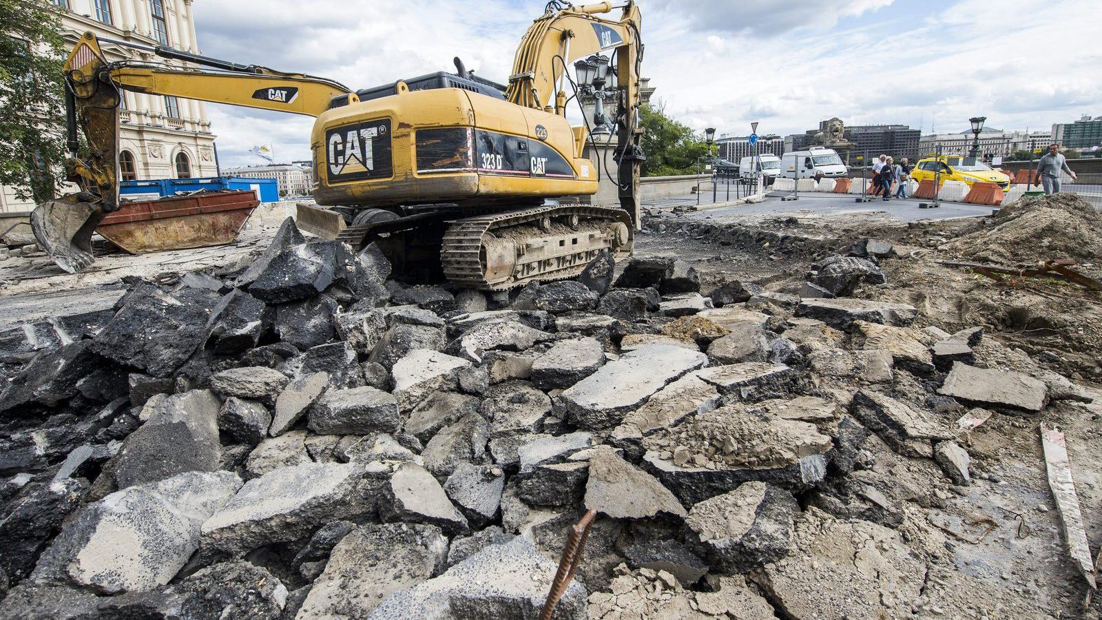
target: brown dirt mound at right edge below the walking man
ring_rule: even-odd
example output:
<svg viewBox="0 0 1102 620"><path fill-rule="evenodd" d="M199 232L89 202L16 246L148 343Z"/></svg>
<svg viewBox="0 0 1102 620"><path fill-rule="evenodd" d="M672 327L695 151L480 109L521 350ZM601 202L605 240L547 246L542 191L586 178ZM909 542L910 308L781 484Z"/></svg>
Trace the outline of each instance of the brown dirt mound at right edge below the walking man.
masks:
<svg viewBox="0 0 1102 620"><path fill-rule="evenodd" d="M1012 266L1054 258L1096 264L1102 256L1102 214L1076 194L1024 196L993 220L964 228L948 249L972 260Z"/></svg>

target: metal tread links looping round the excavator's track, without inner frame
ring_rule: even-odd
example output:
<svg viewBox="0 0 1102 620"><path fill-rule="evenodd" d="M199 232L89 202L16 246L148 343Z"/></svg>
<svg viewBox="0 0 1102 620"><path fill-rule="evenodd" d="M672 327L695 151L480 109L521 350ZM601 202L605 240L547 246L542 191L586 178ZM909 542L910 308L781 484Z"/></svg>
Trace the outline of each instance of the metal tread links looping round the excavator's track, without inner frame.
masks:
<svg viewBox="0 0 1102 620"><path fill-rule="evenodd" d="M563 280L576 276L577 274L573 271L580 272L581 269L561 269L560 271L563 272L558 275L555 271L551 271L507 285L493 285L485 278L485 270L482 265L483 235L495 229L536 222L543 215L552 213L554 215L607 218L609 223L619 221L627 224L629 231L631 229L630 215L626 211L604 206L538 206L521 211L466 217L454 222L444 233L443 243L440 248L440 261L444 268L444 276L457 285L488 290L505 290L525 286L530 281Z"/></svg>

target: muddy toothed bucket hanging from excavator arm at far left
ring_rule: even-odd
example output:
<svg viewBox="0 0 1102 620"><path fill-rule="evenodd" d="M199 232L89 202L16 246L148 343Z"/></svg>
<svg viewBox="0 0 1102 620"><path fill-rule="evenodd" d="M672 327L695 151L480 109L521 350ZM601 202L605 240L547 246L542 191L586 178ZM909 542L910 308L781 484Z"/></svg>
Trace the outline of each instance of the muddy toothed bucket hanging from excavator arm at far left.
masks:
<svg viewBox="0 0 1102 620"><path fill-rule="evenodd" d="M91 255L91 233L104 220L104 210L86 200L87 194L69 194L44 202L31 212L31 229L42 249L69 274L85 270L96 259Z"/></svg>

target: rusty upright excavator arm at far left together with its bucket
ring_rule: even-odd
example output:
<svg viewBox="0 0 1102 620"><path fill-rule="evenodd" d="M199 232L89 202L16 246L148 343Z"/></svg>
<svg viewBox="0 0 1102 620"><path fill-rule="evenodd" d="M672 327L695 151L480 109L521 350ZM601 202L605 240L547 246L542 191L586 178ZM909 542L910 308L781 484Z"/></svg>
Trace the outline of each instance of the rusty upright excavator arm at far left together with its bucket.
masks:
<svg viewBox="0 0 1102 620"><path fill-rule="evenodd" d="M107 64L93 33L85 34L65 62L71 181L84 191L44 202L31 213L31 228L42 249L71 274L95 258L91 234L118 197L119 92L100 75ZM87 157L78 158L77 129L87 140Z"/></svg>

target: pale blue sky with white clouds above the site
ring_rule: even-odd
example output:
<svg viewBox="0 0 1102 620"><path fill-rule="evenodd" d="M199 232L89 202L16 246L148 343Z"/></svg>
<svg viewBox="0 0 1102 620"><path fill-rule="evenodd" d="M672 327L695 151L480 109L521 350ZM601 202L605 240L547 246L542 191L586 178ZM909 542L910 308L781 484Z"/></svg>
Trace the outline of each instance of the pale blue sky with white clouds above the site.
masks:
<svg viewBox="0 0 1102 620"><path fill-rule="evenodd" d="M203 53L363 88L461 56L504 82L545 0L195 3ZM802 132L838 116L923 132L1048 129L1102 116L1099 0L640 0L644 74L695 129ZM226 164L309 159L311 118L209 105Z"/></svg>

